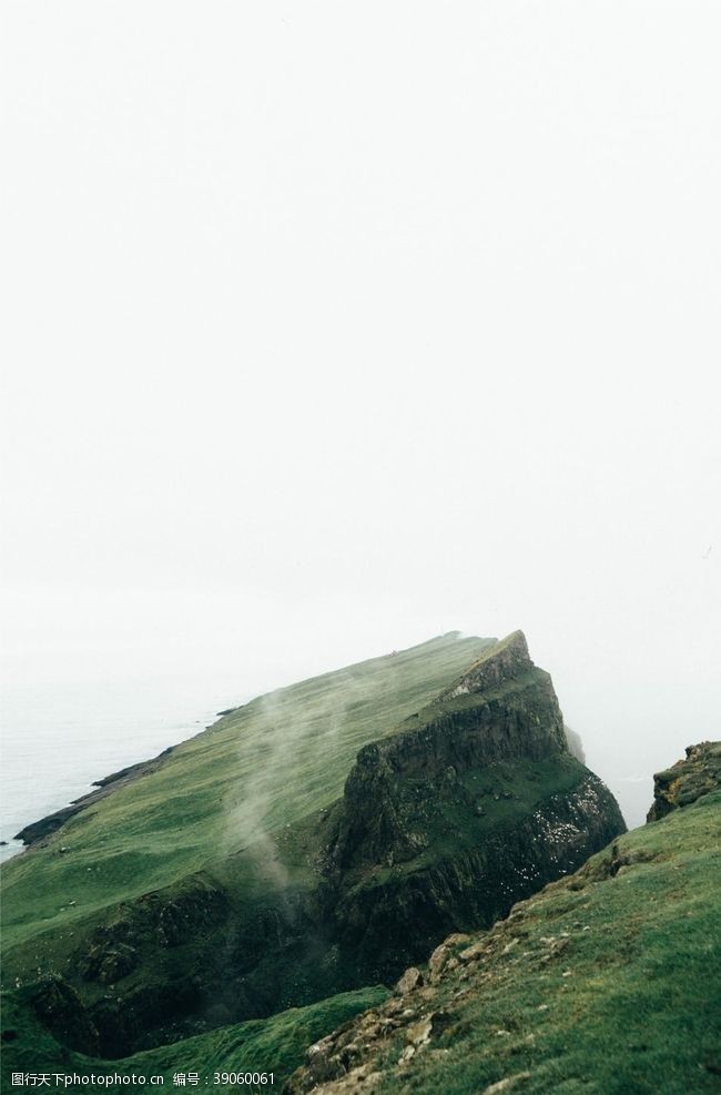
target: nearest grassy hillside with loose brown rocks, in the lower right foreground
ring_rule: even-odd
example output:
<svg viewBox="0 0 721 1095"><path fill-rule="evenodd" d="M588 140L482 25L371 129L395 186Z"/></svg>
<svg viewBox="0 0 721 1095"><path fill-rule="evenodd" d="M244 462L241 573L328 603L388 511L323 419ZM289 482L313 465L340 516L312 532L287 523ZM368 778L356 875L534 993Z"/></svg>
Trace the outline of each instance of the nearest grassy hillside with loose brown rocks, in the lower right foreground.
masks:
<svg viewBox="0 0 721 1095"><path fill-rule="evenodd" d="M720 757L689 749L670 771L697 793L663 820L445 940L313 1045L287 1095L721 1091ZM657 777L657 804L670 782Z"/></svg>

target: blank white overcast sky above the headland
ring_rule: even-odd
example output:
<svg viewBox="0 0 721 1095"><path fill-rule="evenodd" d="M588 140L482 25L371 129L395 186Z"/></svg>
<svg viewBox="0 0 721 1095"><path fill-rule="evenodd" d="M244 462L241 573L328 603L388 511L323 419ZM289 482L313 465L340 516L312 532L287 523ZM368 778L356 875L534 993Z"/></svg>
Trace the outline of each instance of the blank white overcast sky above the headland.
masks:
<svg viewBox="0 0 721 1095"><path fill-rule="evenodd" d="M6 0L7 679L522 627L597 766L719 737L720 33Z"/></svg>

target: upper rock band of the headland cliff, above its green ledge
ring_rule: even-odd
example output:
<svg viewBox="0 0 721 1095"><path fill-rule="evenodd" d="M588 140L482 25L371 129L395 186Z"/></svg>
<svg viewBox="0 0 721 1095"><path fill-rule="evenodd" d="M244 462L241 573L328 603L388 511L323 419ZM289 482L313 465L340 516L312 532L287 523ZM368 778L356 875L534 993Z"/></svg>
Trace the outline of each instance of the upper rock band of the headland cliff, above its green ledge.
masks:
<svg viewBox="0 0 721 1095"><path fill-rule="evenodd" d="M329 850L335 869L418 855L428 845L429 801L456 798L473 769L568 754L550 677L534 666L520 631L499 647L400 732L360 750Z"/></svg>

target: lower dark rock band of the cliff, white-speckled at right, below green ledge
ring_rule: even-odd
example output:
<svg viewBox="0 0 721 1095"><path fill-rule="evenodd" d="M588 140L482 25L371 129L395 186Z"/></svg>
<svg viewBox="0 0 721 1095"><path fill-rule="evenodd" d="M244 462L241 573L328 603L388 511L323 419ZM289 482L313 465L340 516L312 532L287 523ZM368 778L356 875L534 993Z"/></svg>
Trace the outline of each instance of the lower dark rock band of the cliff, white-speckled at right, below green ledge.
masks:
<svg viewBox="0 0 721 1095"><path fill-rule="evenodd" d="M615 800L587 773L573 791L487 832L475 848L437 852L427 863L419 856L417 870L383 872L378 882L341 875L328 898L333 933L360 983L388 981L446 935L506 915L515 902L577 870L623 831Z"/></svg>

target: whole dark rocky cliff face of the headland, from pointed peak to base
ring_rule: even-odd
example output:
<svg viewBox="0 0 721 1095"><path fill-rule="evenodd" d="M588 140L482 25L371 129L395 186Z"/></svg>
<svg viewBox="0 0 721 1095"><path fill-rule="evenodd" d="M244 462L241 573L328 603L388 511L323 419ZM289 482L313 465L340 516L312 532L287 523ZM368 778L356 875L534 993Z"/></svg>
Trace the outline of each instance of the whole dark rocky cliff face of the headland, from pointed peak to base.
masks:
<svg viewBox="0 0 721 1095"><path fill-rule="evenodd" d="M358 753L325 850L324 919L363 979L388 980L624 828L570 756L550 677L515 632Z"/></svg>

